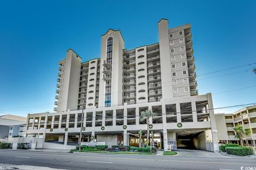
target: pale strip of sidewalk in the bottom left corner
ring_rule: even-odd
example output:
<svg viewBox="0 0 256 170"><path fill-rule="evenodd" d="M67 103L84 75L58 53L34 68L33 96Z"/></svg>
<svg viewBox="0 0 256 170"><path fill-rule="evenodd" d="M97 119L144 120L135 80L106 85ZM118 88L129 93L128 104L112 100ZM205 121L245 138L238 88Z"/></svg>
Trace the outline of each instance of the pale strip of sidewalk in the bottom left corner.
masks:
<svg viewBox="0 0 256 170"><path fill-rule="evenodd" d="M14 164L0 164L0 170L11 170L11 169L19 169L19 170L65 170L65 169L57 169L57 168L49 168L42 166L30 166L30 165L14 165Z"/></svg>

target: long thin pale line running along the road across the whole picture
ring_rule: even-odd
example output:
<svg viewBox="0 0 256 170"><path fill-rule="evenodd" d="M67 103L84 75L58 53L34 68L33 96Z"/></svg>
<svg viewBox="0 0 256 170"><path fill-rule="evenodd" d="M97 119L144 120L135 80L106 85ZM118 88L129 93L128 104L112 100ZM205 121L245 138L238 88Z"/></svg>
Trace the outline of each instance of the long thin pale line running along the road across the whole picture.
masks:
<svg viewBox="0 0 256 170"><path fill-rule="evenodd" d="M4 152L1 152L4 153ZM10 152L5 152L10 153ZM14 152L13 152L14 153ZM117 157L92 157L92 156L76 156L76 155L51 155L51 154L35 154L35 153L19 153L15 152L16 154L22 155L37 155L37 156L60 156L60 157L77 157L77 158L96 158L96 159L120 159L120 160L145 160L145 161L155 161L156 159L138 159L138 158L117 158ZM79 153L82 155L82 153ZM245 163L220 163L220 162L210 162L210 161L188 161L188 160L158 160L158 161L170 161L170 162L187 162L187 163L203 163L203 164L232 164L232 165L244 165ZM247 165L256 165L251 163L246 163Z"/></svg>

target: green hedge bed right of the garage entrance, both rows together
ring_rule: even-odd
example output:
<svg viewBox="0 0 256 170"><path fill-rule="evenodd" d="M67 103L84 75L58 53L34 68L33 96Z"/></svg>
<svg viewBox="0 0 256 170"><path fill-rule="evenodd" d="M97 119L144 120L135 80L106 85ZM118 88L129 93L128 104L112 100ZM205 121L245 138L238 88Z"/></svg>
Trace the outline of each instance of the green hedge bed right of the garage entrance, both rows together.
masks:
<svg viewBox="0 0 256 170"><path fill-rule="evenodd" d="M220 150L229 155L249 156L253 155L253 147L242 147L238 144L224 144L220 145Z"/></svg>

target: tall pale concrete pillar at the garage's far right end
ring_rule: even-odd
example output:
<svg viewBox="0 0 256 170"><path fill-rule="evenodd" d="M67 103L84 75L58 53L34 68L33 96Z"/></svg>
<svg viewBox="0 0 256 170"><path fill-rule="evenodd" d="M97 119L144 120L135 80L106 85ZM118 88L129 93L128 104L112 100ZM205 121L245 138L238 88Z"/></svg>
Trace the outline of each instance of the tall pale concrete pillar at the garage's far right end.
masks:
<svg viewBox="0 0 256 170"><path fill-rule="evenodd" d="M209 115L211 119L211 130L212 130L212 142L213 142L213 149L214 151L219 151L219 144L218 144L218 130L216 125L216 120L214 117L214 110L213 110L213 103L212 103L212 94L206 94L208 106L209 106Z"/></svg>

